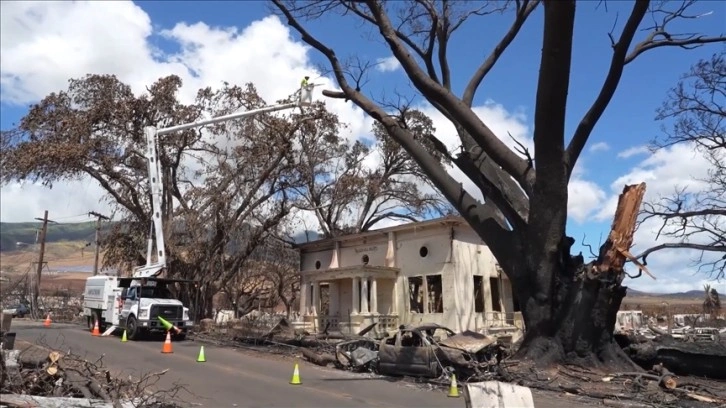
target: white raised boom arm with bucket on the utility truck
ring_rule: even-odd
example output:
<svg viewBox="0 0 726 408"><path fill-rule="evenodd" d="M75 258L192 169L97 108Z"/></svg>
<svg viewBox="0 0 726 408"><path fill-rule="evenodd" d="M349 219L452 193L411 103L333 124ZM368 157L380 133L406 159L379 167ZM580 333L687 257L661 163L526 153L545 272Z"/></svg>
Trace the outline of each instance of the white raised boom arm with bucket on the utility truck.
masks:
<svg viewBox="0 0 726 408"><path fill-rule="evenodd" d="M154 126L147 126L144 128L144 136L146 137L145 156L148 162L149 185L151 187L151 219L153 222L154 238L156 238L156 262L151 262L152 257L150 255L152 254L152 237L151 233L149 233L149 248L146 257L146 265L139 266L134 269L133 275L135 278L149 278L152 276L156 276L161 273L161 271L166 267L164 224L161 217L161 195L163 192L163 179L161 176L161 167L159 164L159 136L166 135L172 132L177 132L180 130L191 129L204 125L211 125L213 123L243 119L261 113L276 112L285 109L308 106L312 103L312 93L314 88L315 84L301 86L300 91L297 94L298 100L296 102L266 106L264 108L232 113L229 115L218 116L211 119L203 119L192 123L171 126L168 128L157 129Z"/></svg>

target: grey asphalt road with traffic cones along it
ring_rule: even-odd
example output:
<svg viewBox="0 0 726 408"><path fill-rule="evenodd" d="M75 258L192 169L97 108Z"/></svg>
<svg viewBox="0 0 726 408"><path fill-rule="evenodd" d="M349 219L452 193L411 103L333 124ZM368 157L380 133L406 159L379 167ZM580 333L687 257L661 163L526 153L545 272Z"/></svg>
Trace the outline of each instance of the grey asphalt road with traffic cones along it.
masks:
<svg viewBox="0 0 726 408"><path fill-rule="evenodd" d="M394 378L354 374L298 361L301 385L290 385L295 360L250 351L205 345L206 362L196 362L201 344L173 343L173 354L162 354L162 341L120 342L119 336L94 337L77 325L13 321L17 340L95 360L116 375L134 375L168 369L156 383L165 390L175 384L189 392L179 395L189 407L459 407L461 398L448 398L446 390L424 389ZM553 395L535 393L537 408L572 406ZM574 405L578 406L578 405ZM581 405L580 405L581 406Z"/></svg>

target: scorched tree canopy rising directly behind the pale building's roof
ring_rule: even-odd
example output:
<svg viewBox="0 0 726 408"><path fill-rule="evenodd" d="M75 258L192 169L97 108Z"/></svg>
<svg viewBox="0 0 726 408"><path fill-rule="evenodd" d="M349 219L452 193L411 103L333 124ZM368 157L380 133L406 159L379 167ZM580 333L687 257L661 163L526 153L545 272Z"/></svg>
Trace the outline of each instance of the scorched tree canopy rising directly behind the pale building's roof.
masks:
<svg viewBox="0 0 726 408"><path fill-rule="evenodd" d="M423 140L435 130L420 111L403 111L400 120ZM384 220L416 221L449 211L419 165L380 123L372 131L375 140L367 144L351 143L337 133L301 138L299 208L315 214L325 237L368 231Z"/></svg>

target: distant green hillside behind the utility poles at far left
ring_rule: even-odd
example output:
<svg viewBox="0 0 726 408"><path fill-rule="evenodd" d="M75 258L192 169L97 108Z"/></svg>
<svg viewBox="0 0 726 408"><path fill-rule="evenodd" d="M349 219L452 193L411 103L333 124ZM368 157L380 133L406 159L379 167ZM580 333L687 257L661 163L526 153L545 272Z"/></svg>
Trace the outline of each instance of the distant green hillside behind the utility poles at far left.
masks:
<svg viewBox="0 0 726 408"><path fill-rule="evenodd" d="M17 243L35 243L40 222L2 222L0 223L0 251L12 251ZM80 222L72 224L48 224L46 242L88 241L93 242L96 233L96 222Z"/></svg>

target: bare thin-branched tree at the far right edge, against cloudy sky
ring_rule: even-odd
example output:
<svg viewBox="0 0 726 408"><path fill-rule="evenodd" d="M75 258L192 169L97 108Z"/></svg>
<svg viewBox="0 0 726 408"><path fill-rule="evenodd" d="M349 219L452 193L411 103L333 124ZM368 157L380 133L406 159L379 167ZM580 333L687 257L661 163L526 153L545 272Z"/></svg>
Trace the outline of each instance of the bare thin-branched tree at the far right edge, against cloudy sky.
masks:
<svg viewBox="0 0 726 408"><path fill-rule="evenodd" d="M705 178L676 186L671 196L646 202L642 222L660 224L662 243L640 257L664 249L699 254L699 269L715 279L726 277L726 51L699 61L668 92L658 120L673 123L653 143L656 149L686 145L708 164ZM697 191L694 190L694 186ZM642 225L642 224L641 224ZM653 255L657 256L657 255Z"/></svg>

